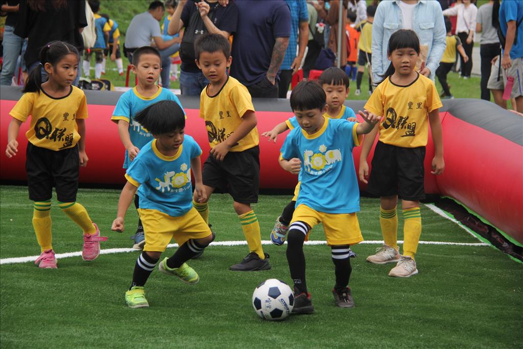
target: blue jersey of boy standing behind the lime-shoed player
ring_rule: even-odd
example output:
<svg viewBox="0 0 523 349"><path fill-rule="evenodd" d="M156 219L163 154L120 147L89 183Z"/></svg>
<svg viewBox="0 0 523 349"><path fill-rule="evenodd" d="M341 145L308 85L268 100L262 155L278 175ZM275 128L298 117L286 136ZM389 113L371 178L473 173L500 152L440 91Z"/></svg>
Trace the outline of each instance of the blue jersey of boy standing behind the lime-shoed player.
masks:
<svg viewBox="0 0 523 349"><path fill-rule="evenodd" d="M118 120L125 120L129 122L129 136L134 147L142 149L142 147L149 143L153 139L153 135L144 129L140 123L135 121L133 118L138 115L140 111L146 107L160 102L160 100L174 100L178 103L181 110L184 108L181 106L181 103L174 93L169 91L169 89L158 87L158 91L151 97L144 97L138 93L136 87L130 89L126 93L120 96L118 103L116 104L115 111L112 113L111 120L118 122ZM185 114L185 110L184 110ZM131 164L129 159L129 154L126 150L126 157L123 161L123 168L128 168Z"/></svg>

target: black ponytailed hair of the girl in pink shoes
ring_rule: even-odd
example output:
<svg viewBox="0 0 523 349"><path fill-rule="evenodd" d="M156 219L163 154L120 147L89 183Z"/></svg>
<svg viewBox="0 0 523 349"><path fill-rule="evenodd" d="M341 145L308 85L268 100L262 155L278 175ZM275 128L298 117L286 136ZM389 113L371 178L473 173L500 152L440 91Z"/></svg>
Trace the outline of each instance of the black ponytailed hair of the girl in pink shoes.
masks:
<svg viewBox="0 0 523 349"><path fill-rule="evenodd" d="M31 72L26 80L24 89L22 92L37 92L40 91L42 85L42 66L46 63L51 64L53 67L62 60L67 54L73 53L78 57L78 50L69 42L64 41L51 41L40 50L38 64Z"/></svg>

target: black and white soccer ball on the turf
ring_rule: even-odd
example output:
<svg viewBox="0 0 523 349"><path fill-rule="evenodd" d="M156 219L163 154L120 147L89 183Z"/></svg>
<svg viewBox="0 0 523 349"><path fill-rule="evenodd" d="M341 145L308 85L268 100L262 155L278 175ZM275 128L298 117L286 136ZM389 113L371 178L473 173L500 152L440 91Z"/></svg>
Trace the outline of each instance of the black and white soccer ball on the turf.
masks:
<svg viewBox="0 0 523 349"><path fill-rule="evenodd" d="M262 319L283 320L289 316L294 305L294 295L286 283L268 279L253 292L254 311Z"/></svg>

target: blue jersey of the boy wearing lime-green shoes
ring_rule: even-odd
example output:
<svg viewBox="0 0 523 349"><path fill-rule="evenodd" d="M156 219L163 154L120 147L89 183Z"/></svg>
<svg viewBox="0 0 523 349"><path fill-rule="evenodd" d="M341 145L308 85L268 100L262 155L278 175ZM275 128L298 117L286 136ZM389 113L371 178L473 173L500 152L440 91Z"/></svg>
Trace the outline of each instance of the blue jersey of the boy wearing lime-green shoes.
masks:
<svg viewBox="0 0 523 349"><path fill-rule="evenodd" d="M185 215L192 208L191 159L201 155L198 143L185 136L174 156L147 143L127 169L126 178L138 187L140 208L158 210L172 217Z"/></svg>

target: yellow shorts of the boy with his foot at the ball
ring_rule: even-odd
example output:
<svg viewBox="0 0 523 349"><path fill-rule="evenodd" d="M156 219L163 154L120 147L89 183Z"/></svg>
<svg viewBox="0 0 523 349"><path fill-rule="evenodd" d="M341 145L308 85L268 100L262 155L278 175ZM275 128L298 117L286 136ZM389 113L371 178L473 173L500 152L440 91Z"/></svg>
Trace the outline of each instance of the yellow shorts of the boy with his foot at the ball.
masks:
<svg viewBox="0 0 523 349"><path fill-rule="evenodd" d="M355 245L363 241L356 213L325 213L302 204L294 211L291 224L297 221L307 223L311 230L317 224L323 223L329 246ZM305 237L306 241L309 240L309 234Z"/></svg>

